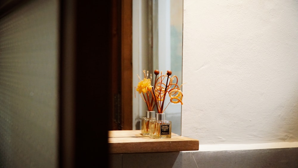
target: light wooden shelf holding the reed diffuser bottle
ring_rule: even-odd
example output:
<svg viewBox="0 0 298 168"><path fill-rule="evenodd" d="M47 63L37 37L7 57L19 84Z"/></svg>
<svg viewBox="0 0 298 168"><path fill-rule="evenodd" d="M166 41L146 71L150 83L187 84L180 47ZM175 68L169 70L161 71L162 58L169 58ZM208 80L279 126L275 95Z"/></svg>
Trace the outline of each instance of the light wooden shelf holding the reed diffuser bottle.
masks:
<svg viewBox="0 0 298 168"><path fill-rule="evenodd" d="M141 130L109 131L109 153L153 153L199 150L199 141L172 133L171 138L152 139Z"/></svg>

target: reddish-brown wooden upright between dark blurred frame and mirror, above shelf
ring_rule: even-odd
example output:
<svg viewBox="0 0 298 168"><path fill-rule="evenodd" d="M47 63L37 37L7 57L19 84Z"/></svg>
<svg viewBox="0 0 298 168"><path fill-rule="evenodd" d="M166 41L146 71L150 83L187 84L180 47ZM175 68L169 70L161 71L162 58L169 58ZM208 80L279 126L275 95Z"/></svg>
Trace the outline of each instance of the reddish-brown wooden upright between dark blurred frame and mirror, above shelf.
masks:
<svg viewBox="0 0 298 168"><path fill-rule="evenodd" d="M132 0L113 0L110 130L132 129Z"/></svg>

